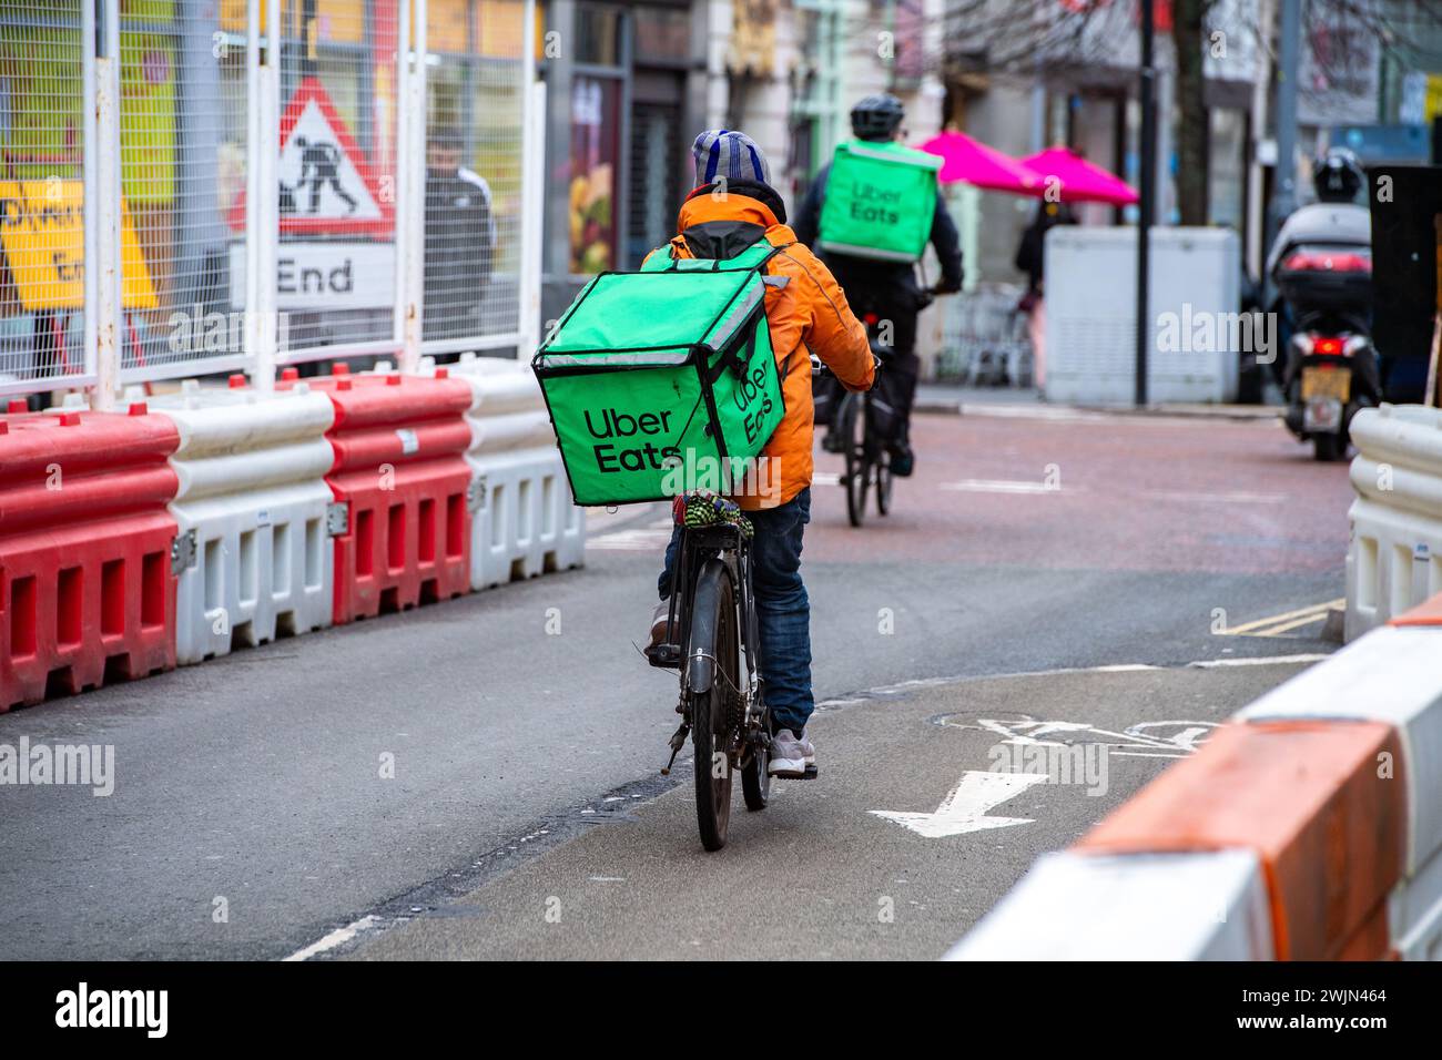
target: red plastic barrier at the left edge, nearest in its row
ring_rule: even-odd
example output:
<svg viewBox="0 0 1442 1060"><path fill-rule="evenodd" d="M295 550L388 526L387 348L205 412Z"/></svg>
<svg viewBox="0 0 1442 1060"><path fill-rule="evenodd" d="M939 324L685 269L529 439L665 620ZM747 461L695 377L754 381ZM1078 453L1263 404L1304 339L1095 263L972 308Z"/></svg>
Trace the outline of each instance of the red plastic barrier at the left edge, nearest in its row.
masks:
<svg viewBox="0 0 1442 1060"><path fill-rule="evenodd" d="M176 665L174 424L0 415L0 711Z"/></svg>

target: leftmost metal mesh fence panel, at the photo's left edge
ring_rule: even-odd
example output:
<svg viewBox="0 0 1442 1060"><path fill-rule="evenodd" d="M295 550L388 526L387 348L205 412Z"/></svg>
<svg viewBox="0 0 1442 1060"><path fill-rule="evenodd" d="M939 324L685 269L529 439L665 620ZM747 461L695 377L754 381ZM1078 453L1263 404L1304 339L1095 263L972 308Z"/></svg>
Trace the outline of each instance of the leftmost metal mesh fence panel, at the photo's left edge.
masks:
<svg viewBox="0 0 1442 1060"><path fill-rule="evenodd" d="M0 387L87 371L81 0L0 0Z"/></svg>

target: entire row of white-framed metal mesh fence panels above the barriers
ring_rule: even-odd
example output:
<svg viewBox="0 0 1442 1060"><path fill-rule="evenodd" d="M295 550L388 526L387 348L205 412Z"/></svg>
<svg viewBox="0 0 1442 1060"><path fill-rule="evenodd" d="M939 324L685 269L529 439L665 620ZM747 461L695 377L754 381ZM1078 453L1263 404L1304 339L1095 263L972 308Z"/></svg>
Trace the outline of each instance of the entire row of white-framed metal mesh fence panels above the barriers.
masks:
<svg viewBox="0 0 1442 1060"><path fill-rule="evenodd" d="M99 23L118 27L120 92L88 159L89 1L0 0L0 392L92 385L85 182L117 140L121 247L107 249L123 384L252 368L249 343L271 324L255 327L261 309L283 363L389 356L412 261L427 352L519 330L522 0L427 4L424 157L398 141L408 0L281 0L275 27L252 26L247 0L97 0ZM271 30L278 128L251 143L264 74L247 52ZM424 218L398 203L402 166L424 180L411 199ZM275 273L254 277L268 249L247 242L247 175L270 169L278 222L260 238ZM401 261L398 232L423 241L415 260Z"/></svg>

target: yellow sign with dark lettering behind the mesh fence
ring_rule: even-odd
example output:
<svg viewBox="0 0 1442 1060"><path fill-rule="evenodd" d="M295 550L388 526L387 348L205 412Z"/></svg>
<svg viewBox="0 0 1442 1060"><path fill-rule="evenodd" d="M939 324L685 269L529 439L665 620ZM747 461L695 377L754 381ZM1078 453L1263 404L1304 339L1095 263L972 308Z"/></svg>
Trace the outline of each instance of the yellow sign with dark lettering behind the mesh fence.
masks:
<svg viewBox="0 0 1442 1060"><path fill-rule="evenodd" d="M121 202L121 301L156 309L156 288ZM27 312L85 304L85 185L79 180L0 180L0 247Z"/></svg>

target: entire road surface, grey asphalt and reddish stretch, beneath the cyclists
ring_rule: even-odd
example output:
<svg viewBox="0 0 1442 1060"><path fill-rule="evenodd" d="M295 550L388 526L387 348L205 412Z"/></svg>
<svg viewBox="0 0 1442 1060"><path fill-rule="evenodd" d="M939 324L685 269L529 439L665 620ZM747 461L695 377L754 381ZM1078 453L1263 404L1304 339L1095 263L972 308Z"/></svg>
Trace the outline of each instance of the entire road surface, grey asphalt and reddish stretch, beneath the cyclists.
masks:
<svg viewBox="0 0 1442 1060"><path fill-rule="evenodd" d="M666 531L623 509L583 571L0 715L117 770L0 787L0 958L936 956L1167 764L1128 728L1204 730L1302 665L1188 663L1331 650L1319 610L1259 620L1343 594L1347 469L1278 425L1018 411L920 417L864 531L815 487L822 777L738 803L721 854L659 777L675 679L633 642ZM1162 669L1054 672L1128 663ZM1106 790L939 838L871 813L930 813L1008 738L936 715L1084 725Z"/></svg>

